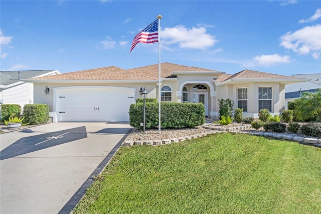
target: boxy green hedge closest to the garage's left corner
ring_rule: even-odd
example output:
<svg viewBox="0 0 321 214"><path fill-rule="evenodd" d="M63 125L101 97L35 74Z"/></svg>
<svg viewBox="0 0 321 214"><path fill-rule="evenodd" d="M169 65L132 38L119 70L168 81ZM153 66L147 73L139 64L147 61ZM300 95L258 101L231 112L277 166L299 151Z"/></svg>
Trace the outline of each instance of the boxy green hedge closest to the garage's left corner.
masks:
<svg viewBox="0 0 321 214"><path fill-rule="evenodd" d="M26 104L24 106L24 122L30 125L48 123L49 105L48 104Z"/></svg>

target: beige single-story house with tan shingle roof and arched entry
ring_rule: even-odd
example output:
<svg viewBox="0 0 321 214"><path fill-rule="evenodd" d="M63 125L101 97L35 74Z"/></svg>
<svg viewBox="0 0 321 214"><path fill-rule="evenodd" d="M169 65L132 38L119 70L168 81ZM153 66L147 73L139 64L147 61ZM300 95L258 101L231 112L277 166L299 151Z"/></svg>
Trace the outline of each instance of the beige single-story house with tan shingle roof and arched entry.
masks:
<svg viewBox="0 0 321 214"><path fill-rule="evenodd" d="M124 70L115 66L35 77L34 101L47 103L53 122L129 121L129 106L140 87L158 99L158 64ZM308 81L296 77L243 70L234 75L173 63L161 64L162 102L202 102L206 116L217 119L218 99L232 99L243 115L257 118L260 109L279 115L285 85ZM45 95L48 87L50 93ZM159 100L159 99L158 99Z"/></svg>

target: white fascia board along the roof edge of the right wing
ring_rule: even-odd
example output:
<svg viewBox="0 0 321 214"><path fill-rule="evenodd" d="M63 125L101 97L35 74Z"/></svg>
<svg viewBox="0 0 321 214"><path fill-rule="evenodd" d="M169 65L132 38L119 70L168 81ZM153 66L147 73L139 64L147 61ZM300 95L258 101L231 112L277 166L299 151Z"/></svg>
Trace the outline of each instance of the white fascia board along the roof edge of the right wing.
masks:
<svg viewBox="0 0 321 214"><path fill-rule="evenodd" d="M214 81L214 80L213 80ZM241 82L279 82L282 84L292 84L298 82L306 82L310 81L310 79L229 79L223 82L215 82L217 86L219 85L226 85L226 84L237 84Z"/></svg>

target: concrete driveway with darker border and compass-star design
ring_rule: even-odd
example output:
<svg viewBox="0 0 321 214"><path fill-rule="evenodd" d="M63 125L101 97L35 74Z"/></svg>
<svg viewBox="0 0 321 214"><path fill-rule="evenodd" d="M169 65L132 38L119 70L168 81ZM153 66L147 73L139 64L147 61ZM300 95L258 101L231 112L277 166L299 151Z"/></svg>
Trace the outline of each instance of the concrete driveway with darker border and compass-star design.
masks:
<svg viewBox="0 0 321 214"><path fill-rule="evenodd" d="M0 135L0 213L68 213L130 131L51 123Z"/></svg>

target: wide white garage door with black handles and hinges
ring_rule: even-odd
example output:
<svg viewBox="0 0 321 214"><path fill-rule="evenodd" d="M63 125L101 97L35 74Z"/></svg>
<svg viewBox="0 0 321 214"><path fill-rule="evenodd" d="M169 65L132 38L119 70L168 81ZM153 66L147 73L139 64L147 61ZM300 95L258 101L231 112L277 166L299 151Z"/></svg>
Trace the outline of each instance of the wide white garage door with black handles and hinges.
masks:
<svg viewBox="0 0 321 214"><path fill-rule="evenodd" d="M134 88L81 86L56 89L58 121L129 121Z"/></svg>

